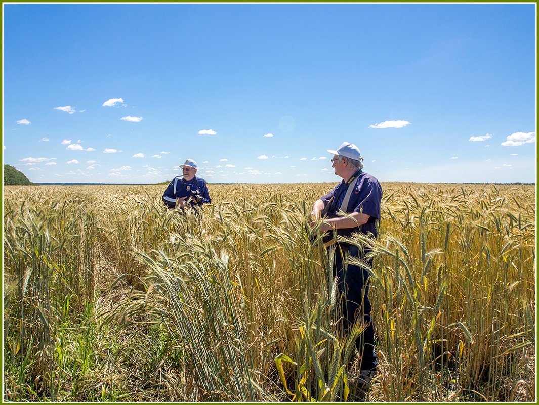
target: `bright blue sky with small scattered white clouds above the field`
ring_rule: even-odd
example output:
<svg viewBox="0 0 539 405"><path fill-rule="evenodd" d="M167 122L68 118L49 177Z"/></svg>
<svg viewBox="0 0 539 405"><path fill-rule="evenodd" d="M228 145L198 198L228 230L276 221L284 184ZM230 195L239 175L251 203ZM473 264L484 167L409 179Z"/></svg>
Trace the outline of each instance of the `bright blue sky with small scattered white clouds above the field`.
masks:
<svg viewBox="0 0 539 405"><path fill-rule="evenodd" d="M34 182L536 179L535 4L3 4L3 160Z"/></svg>

